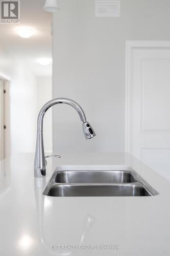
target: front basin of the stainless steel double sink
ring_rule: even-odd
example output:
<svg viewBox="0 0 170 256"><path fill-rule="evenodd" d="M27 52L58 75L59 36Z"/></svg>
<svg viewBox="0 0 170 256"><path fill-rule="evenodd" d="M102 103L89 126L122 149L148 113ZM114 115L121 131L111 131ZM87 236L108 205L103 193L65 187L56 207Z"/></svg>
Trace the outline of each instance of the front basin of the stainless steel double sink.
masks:
<svg viewBox="0 0 170 256"><path fill-rule="evenodd" d="M140 184L69 185L54 184L47 193L51 197L135 197L152 196Z"/></svg>

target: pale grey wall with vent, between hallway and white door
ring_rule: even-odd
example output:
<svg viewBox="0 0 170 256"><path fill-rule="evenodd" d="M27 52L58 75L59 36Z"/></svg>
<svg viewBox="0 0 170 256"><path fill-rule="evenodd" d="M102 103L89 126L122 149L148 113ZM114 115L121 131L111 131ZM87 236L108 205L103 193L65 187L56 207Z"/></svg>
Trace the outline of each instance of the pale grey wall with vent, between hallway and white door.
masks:
<svg viewBox="0 0 170 256"><path fill-rule="evenodd" d="M169 40L169 0L121 0L119 18L94 0L59 0L53 17L53 97L82 105L97 136L85 141L69 106L54 107L54 151L125 151L125 41Z"/></svg>

